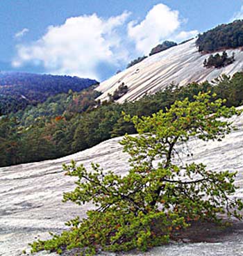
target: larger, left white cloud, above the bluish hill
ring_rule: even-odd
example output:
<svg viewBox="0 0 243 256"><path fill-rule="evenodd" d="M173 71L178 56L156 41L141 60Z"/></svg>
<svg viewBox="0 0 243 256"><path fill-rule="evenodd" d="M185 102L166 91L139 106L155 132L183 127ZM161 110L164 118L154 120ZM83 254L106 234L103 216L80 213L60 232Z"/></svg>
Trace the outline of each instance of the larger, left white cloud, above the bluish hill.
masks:
<svg viewBox="0 0 243 256"><path fill-rule="evenodd" d="M117 65L127 58L117 30L128 15L124 12L109 19L96 14L83 15L70 17L60 26L49 26L40 40L31 45L17 45L17 57L12 65L41 63L53 74L99 79L99 63Z"/></svg>

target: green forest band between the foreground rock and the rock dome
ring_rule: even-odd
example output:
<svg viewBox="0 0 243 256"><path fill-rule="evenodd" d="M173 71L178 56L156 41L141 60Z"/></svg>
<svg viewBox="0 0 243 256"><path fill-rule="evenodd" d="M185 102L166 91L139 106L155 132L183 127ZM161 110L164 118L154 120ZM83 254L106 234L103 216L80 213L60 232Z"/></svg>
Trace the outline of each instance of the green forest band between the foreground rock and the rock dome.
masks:
<svg viewBox="0 0 243 256"><path fill-rule="evenodd" d="M176 100L194 100L194 95L209 90L218 98L227 99L226 106L240 106L243 72L232 78L224 75L213 83L191 83L185 87L172 84L154 95L124 104L97 102L99 93L93 88L49 97L25 111L1 116L0 166L56 159L109 138L133 134L135 127L124 120L123 113L150 116L160 109L167 111Z"/></svg>

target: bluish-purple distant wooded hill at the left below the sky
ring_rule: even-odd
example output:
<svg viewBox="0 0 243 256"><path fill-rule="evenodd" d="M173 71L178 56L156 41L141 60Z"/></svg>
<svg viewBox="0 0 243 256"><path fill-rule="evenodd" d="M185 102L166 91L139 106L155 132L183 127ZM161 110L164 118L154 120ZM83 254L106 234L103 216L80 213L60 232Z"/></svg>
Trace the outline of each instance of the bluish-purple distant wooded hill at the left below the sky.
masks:
<svg viewBox="0 0 243 256"><path fill-rule="evenodd" d="M97 83L79 77L0 72L0 115L44 102L58 93L79 92Z"/></svg>

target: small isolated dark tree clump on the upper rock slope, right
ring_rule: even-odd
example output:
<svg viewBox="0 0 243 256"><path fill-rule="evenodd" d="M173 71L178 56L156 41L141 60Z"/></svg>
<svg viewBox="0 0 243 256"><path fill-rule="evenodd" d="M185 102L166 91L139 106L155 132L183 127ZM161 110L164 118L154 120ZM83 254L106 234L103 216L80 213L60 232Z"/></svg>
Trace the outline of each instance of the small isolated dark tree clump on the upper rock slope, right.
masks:
<svg viewBox="0 0 243 256"><path fill-rule="evenodd" d="M223 53L210 55L208 59L205 59L203 61L203 67L226 67L227 65L232 64L235 61L235 54L233 53L231 57L228 57L228 54L226 51L223 51Z"/></svg>

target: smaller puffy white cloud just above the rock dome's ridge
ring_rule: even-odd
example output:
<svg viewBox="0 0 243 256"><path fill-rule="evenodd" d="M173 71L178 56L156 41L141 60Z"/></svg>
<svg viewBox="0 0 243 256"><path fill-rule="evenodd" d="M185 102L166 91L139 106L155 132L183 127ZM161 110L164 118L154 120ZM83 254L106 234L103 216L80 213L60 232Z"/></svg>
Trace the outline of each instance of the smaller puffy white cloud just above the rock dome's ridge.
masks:
<svg viewBox="0 0 243 256"><path fill-rule="evenodd" d="M128 24L128 36L134 40L137 51L148 54L163 40L169 38L180 42L194 37L198 31L178 31L186 19L179 18L178 10L171 10L165 4L159 3L153 6L142 22L130 22Z"/></svg>

